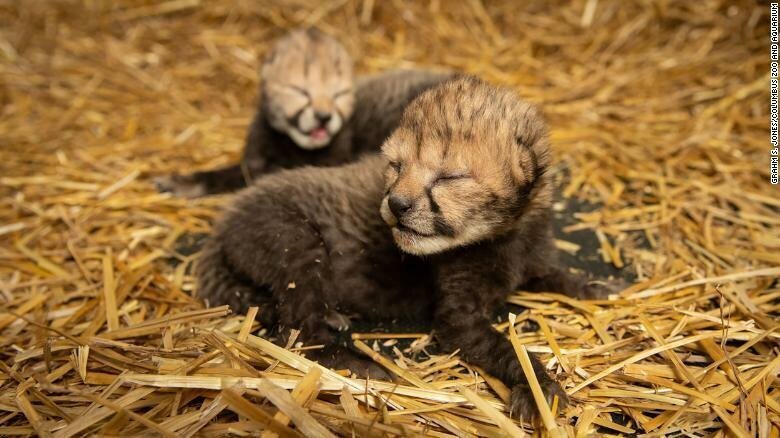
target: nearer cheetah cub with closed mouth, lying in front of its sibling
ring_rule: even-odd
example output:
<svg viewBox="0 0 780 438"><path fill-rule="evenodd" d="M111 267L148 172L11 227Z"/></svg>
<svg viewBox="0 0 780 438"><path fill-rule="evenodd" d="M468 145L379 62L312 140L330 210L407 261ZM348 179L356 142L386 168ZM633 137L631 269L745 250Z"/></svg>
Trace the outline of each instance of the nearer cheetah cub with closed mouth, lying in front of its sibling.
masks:
<svg viewBox="0 0 780 438"><path fill-rule="evenodd" d="M207 243L199 295L238 311L259 304L266 324L325 345L308 354L373 377L381 371L335 342L332 322L346 318L334 315L433 321L443 348L500 378L513 415L533 417L495 313L518 286L600 292L555 264L540 114L510 89L460 77L415 99L382 151L258 180ZM548 400L564 405L561 387L533 364Z"/></svg>

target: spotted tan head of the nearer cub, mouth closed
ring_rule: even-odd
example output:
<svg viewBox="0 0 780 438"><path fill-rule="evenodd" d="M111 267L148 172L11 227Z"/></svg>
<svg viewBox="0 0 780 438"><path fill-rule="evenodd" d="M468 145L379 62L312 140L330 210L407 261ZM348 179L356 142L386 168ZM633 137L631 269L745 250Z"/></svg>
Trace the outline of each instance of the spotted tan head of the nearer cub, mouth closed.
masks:
<svg viewBox="0 0 780 438"><path fill-rule="evenodd" d="M518 229L550 207L548 148L541 115L512 90L451 80L415 99L384 143L382 218L417 255Z"/></svg>

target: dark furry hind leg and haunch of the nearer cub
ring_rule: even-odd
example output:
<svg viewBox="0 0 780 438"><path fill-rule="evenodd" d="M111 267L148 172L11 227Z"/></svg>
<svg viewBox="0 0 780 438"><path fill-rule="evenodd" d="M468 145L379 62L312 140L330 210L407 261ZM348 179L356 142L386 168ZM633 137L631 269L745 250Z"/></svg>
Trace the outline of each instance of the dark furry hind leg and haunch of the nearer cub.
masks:
<svg viewBox="0 0 780 438"><path fill-rule="evenodd" d="M252 289L267 290L271 297L263 298L274 303L269 319L278 322L282 344L291 329L300 330L300 341L321 346L307 353L309 359L331 368L348 368L362 377L389 378L372 361L337 343L330 310L335 303L327 302L325 294L333 284L333 269L327 242L313 221L268 196L262 184L249 190L217 225L204 251L198 274L201 297L244 312L256 304ZM242 293L245 283L252 287Z"/></svg>

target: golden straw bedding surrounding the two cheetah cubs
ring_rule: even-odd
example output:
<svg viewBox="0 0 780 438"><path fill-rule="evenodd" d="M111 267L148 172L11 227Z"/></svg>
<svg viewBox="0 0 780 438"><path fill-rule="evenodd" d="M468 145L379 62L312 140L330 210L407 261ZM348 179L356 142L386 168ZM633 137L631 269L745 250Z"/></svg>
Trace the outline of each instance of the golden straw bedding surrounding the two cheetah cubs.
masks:
<svg viewBox="0 0 780 438"><path fill-rule="evenodd" d="M150 177L234 160L258 58L308 24L362 72L454 68L543 105L563 195L595 206L560 247L586 232L635 278L510 296L497 327L562 382L557 416L510 419L426 333L354 335L398 376L356 380L192 298L177 242L229 196ZM753 1L0 2L0 435L778 436L767 28Z"/></svg>

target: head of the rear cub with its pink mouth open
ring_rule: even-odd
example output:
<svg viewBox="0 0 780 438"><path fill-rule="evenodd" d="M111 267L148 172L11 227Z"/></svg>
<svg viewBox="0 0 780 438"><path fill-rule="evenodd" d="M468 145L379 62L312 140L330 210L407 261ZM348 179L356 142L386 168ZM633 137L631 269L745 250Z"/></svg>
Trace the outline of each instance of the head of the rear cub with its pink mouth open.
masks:
<svg viewBox="0 0 780 438"><path fill-rule="evenodd" d="M352 115L352 58L317 29L296 30L277 41L260 74L265 117L303 149L328 146Z"/></svg>

